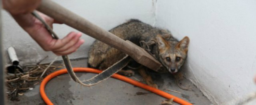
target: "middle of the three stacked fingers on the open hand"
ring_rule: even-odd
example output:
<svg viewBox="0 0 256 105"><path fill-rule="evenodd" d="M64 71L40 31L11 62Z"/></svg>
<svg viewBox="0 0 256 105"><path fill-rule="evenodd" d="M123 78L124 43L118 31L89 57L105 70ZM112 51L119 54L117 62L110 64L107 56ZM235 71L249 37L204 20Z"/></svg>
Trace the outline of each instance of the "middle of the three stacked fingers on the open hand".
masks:
<svg viewBox="0 0 256 105"><path fill-rule="evenodd" d="M54 51L61 52L61 51L65 51L65 50L69 49L70 47L74 46L74 44L76 44L79 41L79 38L81 36L82 36L81 33L77 33L67 44L65 44L61 48L56 49Z"/></svg>

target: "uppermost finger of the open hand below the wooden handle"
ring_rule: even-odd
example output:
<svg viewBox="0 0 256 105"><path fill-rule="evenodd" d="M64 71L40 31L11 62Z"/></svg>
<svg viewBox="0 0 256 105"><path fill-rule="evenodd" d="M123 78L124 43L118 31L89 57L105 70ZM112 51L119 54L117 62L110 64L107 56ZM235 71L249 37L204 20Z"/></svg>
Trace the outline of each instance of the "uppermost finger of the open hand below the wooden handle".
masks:
<svg viewBox="0 0 256 105"><path fill-rule="evenodd" d="M71 41L73 39L73 37L76 36L76 32L70 32L69 34L67 34L66 37L64 37L63 39L57 40L53 45L52 45L52 49L59 49L63 46L65 46L69 41Z"/></svg>

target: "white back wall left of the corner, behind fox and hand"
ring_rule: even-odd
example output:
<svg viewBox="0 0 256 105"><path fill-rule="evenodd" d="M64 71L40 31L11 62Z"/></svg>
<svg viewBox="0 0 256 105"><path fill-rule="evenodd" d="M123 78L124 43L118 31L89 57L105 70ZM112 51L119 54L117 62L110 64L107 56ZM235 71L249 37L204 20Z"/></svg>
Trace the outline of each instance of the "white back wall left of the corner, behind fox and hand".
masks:
<svg viewBox="0 0 256 105"><path fill-rule="evenodd" d="M155 21L154 0L54 1L106 30L112 29L131 18L140 19L148 24L154 24ZM36 63L47 55L49 57L45 60L46 62L50 62L55 58L55 55L52 52L43 51L42 48L38 46L5 11L2 14L2 20L4 51L10 46L15 47L21 63ZM64 24L55 24L54 31L58 36L64 37L69 32L76 30ZM95 39L87 35L83 35L82 39L85 39L85 44L83 44L78 51L71 54L70 58L87 57L88 49ZM5 54L5 56L8 58L7 54Z"/></svg>

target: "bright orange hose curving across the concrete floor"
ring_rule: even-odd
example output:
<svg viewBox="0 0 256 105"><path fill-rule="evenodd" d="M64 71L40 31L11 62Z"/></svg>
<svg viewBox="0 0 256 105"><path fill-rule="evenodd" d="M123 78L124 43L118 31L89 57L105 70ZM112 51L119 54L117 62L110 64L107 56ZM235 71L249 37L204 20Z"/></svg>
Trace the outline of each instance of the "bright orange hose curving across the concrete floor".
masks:
<svg viewBox="0 0 256 105"><path fill-rule="evenodd" d="M101 73L102 72L102 71L100 71L98 69L93 69L93 68L73 68L73 69L74 69L74 72L90 72L90 73ZM48 75L47 77L45 77L43 79L43 81L42 81L42 83L40 85L40 94L41 94L41 97L43 98L43 100L45 101L45 103L47 105L53 105L53 103L50 101L50 99L45 94L45 85L52 78L54 78L56 76L59 76L59 75L62 75L62 74L65 74L65 73L67 73L67 69L61 69L61 70L55 71L54 73L51 73L50 75ZM167 98L167 99L174 98L173 101L177 102L177 103L179 103L181 105L192 105L191 103L186 102L186 101L184 101L184 100L182 100L182 99L180 99L178 97L170 95L170 94L168 94L168 93L166 93L164 91L161 91L159 89L153 88L151 86L145 85L145 84L140 83L138 81L132 80L132 79L127 78L125 76L114 74L114 75L112 75L112 77L116 78L116 79L119 79L119 80L122 80L122 81L125 81L127 83L130 83L132 85L138 86L140 88L144 88L145 90L148 90L148 91L151 91L153 93L156 93L157 95L161 95L164 98Z"/></svg>

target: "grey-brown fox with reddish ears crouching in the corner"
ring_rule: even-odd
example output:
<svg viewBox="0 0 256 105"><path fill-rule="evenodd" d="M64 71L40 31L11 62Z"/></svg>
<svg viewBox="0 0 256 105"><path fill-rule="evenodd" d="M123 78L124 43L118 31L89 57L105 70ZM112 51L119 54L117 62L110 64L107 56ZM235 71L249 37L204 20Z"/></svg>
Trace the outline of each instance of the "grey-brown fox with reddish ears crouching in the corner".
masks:
<svg viewBox="0 0 256 105"><path fill-rule="evenodd" d="M163 64L166 73L177 73L187 58L189 37L186 36L181 41L178 41L168 30L152 27L140 20L131 19L114 27L109 32L121 39L129 40L150 52L152 56ZM125 53L96 40L88 53L88 65L105 70L124 56ZM140 67L138 72L148 85L157 88L157 85L153 83L145 69L148 68ZM131 69L120 70L118 73L125 76L134 75L134 71Z"/></svg>

